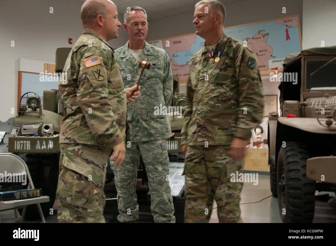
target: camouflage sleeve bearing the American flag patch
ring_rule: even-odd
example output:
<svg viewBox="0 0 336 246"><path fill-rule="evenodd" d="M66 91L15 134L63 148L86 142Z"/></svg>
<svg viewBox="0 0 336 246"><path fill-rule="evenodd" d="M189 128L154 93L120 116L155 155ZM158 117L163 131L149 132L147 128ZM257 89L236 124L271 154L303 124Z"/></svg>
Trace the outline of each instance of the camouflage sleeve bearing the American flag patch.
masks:
<svg viewBox="0 0 336 246"><path fill-rule="evenodd" d="M95 56L99 59L100 64L86 67L84 61ZM123 137L108 98L112 51L106 52L100 48L92 47L85 50L82 57L78 76L78 104L92 134L97 135L99 142L113 147L123 142Z"/></svg>

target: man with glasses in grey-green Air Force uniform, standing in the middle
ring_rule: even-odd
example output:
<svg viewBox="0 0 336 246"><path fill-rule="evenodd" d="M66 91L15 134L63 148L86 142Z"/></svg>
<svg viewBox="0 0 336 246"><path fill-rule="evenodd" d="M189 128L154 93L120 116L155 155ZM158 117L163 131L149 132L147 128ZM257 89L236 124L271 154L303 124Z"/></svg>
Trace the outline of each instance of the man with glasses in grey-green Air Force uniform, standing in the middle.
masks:
<svg viewBox="0 0 336 246"><path fill-rule="evenodd" d="M151 210L155 223L175 223L174 206L169 186L169 158L166 138L172 136L167 115L156 115L155 107L169 106L173 80L169 58L164 50L145 42L148 23L143 8L131 7L124 14L124 30L129 41L116 49L125 85L134 85L140 76L140 60L151 63L141 77L141 97L127 105L130 143L126 144L125 163L111 166L118 191L118 220L134 222L138 219L136 190L137 168L142 156L151 193Z"/></svg>

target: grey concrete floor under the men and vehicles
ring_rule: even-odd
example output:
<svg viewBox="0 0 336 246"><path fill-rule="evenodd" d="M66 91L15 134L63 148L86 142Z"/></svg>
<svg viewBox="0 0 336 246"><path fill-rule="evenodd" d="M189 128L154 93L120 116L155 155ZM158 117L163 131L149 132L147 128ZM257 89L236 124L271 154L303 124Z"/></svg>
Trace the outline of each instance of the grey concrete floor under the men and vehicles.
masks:
<svg viewBox="0 0 336 246"><path fill-rule="evenodd" d="M316 195L319 194L329 194L334 196L332 192L316 192ZM270 186L269 186L269 175L259 175L258 185L253 185L253 183L245 183L243 191L241 194L241 202L253 202L259 201L267 196L271 195ZM213 207L216 207L214 202ZM56 206L54 205L54 209ZM241 204L241 213L244 223L282 223L279 208L278 208L278 199L271 196L261 202ZM140 210L141 211L141 210ZM54 214L46 218L47 223L57 223L56 210ZM143 215L150 215L148 212L143 212ZM20 215L18 218L14 218L14 211L3 211L0 212L1 222L2 223L18 223L20 222ZM107 223L112 222L112 213L104 213ZM147 216L150 217L150 216ZM25 221L25 223L39 223L40 220L36 221ZM151 223L151 219L146 221ZM218 223L217 209L213 209L211 214L210 223ZM315 214L313 223L336 223L336 208L330 206L326 201L316 201L315 204Z"/></svg>

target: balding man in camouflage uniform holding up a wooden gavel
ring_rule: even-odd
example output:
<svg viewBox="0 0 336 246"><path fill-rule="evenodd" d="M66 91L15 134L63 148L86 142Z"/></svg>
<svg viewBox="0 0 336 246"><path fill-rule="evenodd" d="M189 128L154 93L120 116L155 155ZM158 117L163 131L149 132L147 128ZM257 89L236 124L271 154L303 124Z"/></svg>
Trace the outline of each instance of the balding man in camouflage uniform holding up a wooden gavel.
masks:
<svg viewBox="0 0 336 246"><path fill-rule="evenodd" d="M60 223L104 223L103 187L109 156L112 150L117 153L113 157L117 157L116 165L124 159L126 93L114 51L107 43L118 37L121 23L117 16L110 1L83 4L83 35L65 63L66 80L59 82L67 108L59 137ZM128 100L134 101L137 95Z"/></svg>

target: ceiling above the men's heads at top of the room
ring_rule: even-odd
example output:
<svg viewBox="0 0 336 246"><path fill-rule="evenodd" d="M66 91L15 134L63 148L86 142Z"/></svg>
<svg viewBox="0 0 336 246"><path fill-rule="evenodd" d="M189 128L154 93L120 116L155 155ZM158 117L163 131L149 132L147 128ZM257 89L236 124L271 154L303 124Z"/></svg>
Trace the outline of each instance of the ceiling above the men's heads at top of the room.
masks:
<svg viewBox="0 0 336 246"><path fill-rule="evenodd" d="M76 0L85 2L85 0ZM124 16L127 7L140 6L147 12L147 19L159 19L182 13L194 12L195 4L200 0L112 0L118 9L118 13ZM241 0L221 0L223 4L239 2ZM123 17L119 18L119 20Z"/></svg>

